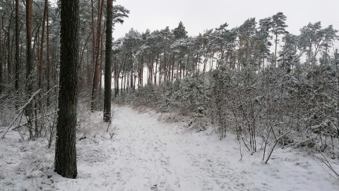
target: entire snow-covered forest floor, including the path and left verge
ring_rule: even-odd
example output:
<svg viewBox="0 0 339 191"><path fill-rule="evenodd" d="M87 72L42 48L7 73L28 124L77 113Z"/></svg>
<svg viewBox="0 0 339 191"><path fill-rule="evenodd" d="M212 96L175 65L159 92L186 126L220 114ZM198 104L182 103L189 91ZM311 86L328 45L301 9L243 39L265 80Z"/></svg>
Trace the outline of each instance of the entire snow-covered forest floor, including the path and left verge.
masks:
<svg viewBox="0 0 339 191"><path fill-rule="evenodd" d="M220 141L211 130L159 122L150 110L118 110L112 139L101 117L93 117L89 127L99 132L78 140L76 180L53 172L47 139L20 141L9 132L0 139L0 190L339 190L329 171L302 152L277 149L264 164L261 152L244 151L240 161L232 134ZM333 166L339 170L338 161Z"/></svg>

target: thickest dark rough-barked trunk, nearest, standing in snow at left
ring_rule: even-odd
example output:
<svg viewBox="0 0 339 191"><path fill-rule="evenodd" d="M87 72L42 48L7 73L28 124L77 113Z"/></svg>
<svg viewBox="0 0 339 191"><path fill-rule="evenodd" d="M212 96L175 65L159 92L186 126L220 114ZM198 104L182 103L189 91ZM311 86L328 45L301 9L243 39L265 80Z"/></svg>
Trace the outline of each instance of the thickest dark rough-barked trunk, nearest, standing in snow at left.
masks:
<svg viewBox="0 0 339 191"><path fill-rule="evenodd" d="M61 0L59 111L55 171L76 178L76 106L78 101L79 0Z"/></svg>

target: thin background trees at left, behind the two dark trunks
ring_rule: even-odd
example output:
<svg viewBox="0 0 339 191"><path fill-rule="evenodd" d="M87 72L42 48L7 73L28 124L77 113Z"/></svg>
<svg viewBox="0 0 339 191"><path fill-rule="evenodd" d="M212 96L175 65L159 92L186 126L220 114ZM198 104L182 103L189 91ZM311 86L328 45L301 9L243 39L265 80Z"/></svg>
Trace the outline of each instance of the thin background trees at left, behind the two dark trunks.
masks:
<svg viewBox="0 0 339 191"><path fill-rule="evenodd" d="M60 1L3 1L0 5L0 93L22 96L24 101L41 89L47 93L59 83ZM123 23L129 11L113 7L107 26L105 1L79 1L79 88L91 88L92 110L102 86L107 28ZM110 55L110 54L107 54ZM57 92L57 91L55 91ZM50 93L46 96L50 105ZM20 105L20 103L18 103ZM34 135L33 135L34 136Z"/></svg>

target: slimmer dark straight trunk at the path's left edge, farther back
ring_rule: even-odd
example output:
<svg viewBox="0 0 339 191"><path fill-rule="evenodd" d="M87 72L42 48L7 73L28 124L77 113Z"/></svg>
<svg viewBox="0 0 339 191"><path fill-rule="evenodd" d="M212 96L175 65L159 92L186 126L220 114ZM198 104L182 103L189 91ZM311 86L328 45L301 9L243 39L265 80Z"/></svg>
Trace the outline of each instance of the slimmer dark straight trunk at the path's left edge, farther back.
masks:
<svg viewBox="0 0 339 191"><path fill-rule="evenodd" d="M106 23L106 54L105 54L105 98L104 98L104 122L111 121L111 97L112 97L112 21L113 0L107 0Z"/></svg>

